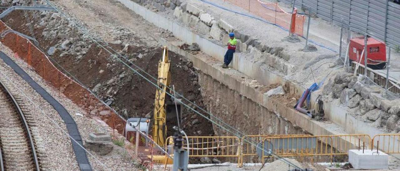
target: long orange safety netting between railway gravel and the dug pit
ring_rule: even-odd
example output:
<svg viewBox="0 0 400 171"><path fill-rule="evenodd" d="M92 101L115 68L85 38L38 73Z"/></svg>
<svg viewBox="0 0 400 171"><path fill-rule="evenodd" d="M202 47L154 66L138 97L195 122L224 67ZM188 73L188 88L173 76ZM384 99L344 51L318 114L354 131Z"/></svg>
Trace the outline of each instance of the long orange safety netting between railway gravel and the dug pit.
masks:
<svg viewBox="0 0 400 171"><path fill-rule="evenodd" d="M11 29L4 22L0 21L0 32L4 32L5 30ZM90 117L101 118L113 129L114 135L124 135L126 120L120 117L113 109L104 105L91 91L58 70L50 62L46 54L34 46L30 40L18 34L9 33L1 42L10 48L16 57L24 60L32 67L46 82L56 87L59 93L63 93L87 113L90 113ZM100 111L106 112L100 115ZM160 161L154 161L152 155L158 155L158 157L166 155L160 148L155 148L157 145L152 141L151 137L143 133L140 133L139 141L135 141L135 136L130 135L130 137L133 138L128 139L129 143L125 143L124 147L131 154L132 158L140 161L149 170L153 169L154 163L160 163Z"/></svg>

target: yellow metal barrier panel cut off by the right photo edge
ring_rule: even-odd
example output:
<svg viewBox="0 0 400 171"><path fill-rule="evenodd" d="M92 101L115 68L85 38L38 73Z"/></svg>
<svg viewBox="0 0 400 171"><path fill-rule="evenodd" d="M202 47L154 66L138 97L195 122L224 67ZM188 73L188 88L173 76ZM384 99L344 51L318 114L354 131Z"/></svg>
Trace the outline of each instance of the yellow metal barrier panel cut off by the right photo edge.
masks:
<svg viewBox="0 0 400 171"><path fill-rule="evenodd" d="M372 138L374 145L384 153L400 153L400 134L378 134Z"/></svg>

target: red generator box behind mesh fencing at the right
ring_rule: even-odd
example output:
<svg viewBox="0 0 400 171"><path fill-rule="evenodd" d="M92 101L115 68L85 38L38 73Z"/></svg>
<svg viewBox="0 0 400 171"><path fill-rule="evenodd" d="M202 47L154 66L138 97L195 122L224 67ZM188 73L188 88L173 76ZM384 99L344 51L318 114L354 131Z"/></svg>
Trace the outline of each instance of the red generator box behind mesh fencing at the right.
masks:
<svg viewBox="0 0 400 171"><path fill-rule="evenodd" d="M367 67L372 70L381 70L386 67L386 45L374 38L368 37L367 40ZM350 39L349 59L351 62L360 62L364 65L365 54L361 54L364 50L364 36ZM357 58L358 53L358 58ZM362 55L362 56L361 56ZM360 61L361 60L361 61Z"/></svg>

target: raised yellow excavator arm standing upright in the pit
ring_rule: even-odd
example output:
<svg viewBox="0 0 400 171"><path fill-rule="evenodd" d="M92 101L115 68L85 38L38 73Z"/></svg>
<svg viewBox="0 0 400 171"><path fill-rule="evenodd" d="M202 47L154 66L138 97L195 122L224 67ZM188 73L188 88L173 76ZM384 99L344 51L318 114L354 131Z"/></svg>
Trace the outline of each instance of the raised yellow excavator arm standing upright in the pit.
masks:
<svg viewBox="0 0 400 171"><path fill-rule="evenodd" d="M167 126L166 126L166 111L165 111L165 97L167 86L170 85L170 60L168 59L168 48L162 48L162 58L158 62L158 81L159 88L156 89L156 99L154 101L154 124L153 124L153 139L154 141L164 147Z"/></svg>

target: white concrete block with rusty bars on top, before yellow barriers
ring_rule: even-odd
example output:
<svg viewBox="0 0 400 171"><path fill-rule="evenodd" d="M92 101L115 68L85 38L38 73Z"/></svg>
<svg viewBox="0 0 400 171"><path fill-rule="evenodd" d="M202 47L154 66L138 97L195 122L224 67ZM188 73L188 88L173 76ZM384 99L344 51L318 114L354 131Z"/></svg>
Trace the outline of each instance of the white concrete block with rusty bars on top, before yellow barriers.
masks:
<svg viewBox="0 0 400 171"><path fill-rule="evenodd" d="M351 163L354 169L388 169L389 156L382 151L370 151L362 150L358 151L349 150L349 163Z"/></svg>

